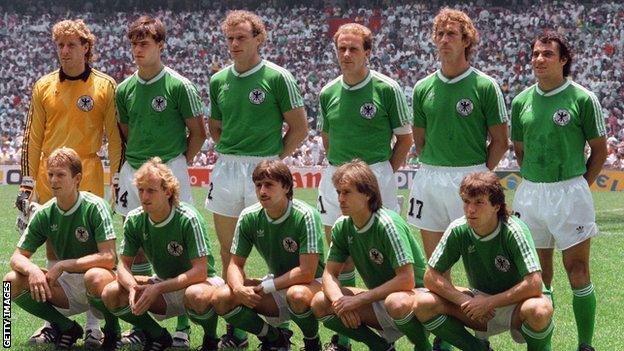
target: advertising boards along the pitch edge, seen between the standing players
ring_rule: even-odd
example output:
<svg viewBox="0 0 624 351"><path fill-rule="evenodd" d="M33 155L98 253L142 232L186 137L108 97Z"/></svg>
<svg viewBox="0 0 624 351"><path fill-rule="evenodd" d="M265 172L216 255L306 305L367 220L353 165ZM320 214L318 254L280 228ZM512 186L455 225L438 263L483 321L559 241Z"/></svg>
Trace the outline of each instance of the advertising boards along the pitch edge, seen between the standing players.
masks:
<svg viewBox="0 0 624 351"><path fill-rule="evenodd" d="M296 188L318 188L321 181L321 167L291 167ZM409 189L412 186L417 169L401 169L396 173L399 189ZM104 170L104 179L108 179L108 169ZM210 184L212 167L189 167L189 177L192 186L207 187ZM519 171L497 171L496 175L506 190L515 190L522 177ZM0 166L0 185L20 184L22 175L19 165ZM591 186L592 191L624 191L624 171L603 169L596 182Z"/></svg>

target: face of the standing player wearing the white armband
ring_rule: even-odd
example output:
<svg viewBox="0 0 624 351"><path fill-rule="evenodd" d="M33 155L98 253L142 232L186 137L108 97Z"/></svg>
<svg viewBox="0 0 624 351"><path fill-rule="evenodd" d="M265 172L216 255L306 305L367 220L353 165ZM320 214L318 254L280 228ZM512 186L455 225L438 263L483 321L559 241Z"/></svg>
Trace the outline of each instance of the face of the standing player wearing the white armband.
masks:
<svg viewBox="0 0 624 351"><path fill-rule="evenodd" d="M370 50L364 50L364 38L342 33L336 40L336 55L343 74L361 74L366 71Z"/></svg>

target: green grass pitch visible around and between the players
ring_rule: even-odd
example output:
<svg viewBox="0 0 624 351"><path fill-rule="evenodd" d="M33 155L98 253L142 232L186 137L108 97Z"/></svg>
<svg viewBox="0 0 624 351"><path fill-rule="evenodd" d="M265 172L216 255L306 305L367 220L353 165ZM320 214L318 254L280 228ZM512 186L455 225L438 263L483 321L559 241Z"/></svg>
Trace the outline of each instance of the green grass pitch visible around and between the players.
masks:
<svg viewBox="0 0 624 351"><path fill-rule="evenodd" d="M0 186L0 262L2 263L2 274L4 275L9 267L9 259L12 252L15 249L15 245L18 240L17 233L14 230L15 216L17 210L13 208L13 201L17 193L16 186ZM402 191L407 197L407 191ZM209 225L210 244L212 246L212 252L215 256L218 255L218 242L214 232L214 226L212 223L212 215L206 212L203 208L204 199L206 196L206 189L195 188L193 190L195 197L195 204L204 214ZM513 199L513 193L509 192L508 202L511 203ZM315 203L316 189L301 189L295 191L295 197L307 201L311 204ZM624 297L619 287L619 282L622 282L620 273L617 271L620 269L620 263L624 262L624 256L622 254L622 247L624 247L624 193L611 192L611 193L594 193L594 201L596 204L596 216L598 226L600 228L600 236L592 241L592 280L596 286L598 306L597 306L597 321L596 321L596 333L594 346L598 350L622 350L624 349L624 338L621 335L622 331L622 310L624 309ZM115 218L115 229L118 236L121 234L121 218ZM414 231L414 235L419 237L419 234ZM41 252L37 252L34 256L34 260L44 265L45 255ZM217 271L220 272L220 260L215 257L217 261ZM262 276L266 273L265 265L260 261L257 253L253 253L247 264L250 269L248 275L250 276ZM561 255L557 253L555 255L555 279L554 279L554 291L556 296L557 308L555 310L555 332L553 336L553 350L572 351L576 350L576 328L574 324L574 316L572 314L572 294L569 289L569 285L566 279L565 271L561 265ZM458 284L465 284L465 275L462 272L462 268L456 266L453 270L453 279ZM359 282L361 284L361 281ZM12 322L12 346L11 348L17 350L27 350L29 348L26 344L27 338L30 334L41 325L41 320L24 313L19 307L13 304L11 315ZM78 320L83 323L84 316L78 317ZM166 321L165 325L169 330L173 330L175 326L175 320L170 319ZM123 325L126 328L127 325ZM301 341L301 333L297 326L291 323L291 328L295 332L292 341L293 350L299 349L303 346ZM219 332L223 332L224 323L219 322ZM331 333L321 327L321 338L323 342L327 342L331 336ZM202 332L197 326L193 326L191 333L192 347L195 348L201 343ZM250 337L251 345L249 349L254 349L258 342L255 337ZM491 339L494 350L524 350L526 346L514 344L508 333L504 333L495 336ZM81 341L78 342L77 349L81 348ZM50 349L52 347L42 347L42 350ZM363 344L355 343L353 345L354 350L365 350ZM411 350L409 342L402 338L397 343L397 350Z"/></svg>

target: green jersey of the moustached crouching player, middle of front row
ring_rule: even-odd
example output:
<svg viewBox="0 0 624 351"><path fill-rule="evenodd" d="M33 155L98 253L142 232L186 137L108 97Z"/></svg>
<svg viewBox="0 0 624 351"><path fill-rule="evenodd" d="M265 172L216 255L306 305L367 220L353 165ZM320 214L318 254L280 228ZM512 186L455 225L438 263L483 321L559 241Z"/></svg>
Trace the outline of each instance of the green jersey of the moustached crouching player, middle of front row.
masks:
<svg viewBox="0 0 624 351"><path fill-rule="evenodd" d="M248 257L253 247L275 276L298 267L301 254L319 254L315 277L323 275L321 217L317 209L303 201L292 200L278 219L271 219L260 203L244 209L236 224L230 252Z"/></svg>

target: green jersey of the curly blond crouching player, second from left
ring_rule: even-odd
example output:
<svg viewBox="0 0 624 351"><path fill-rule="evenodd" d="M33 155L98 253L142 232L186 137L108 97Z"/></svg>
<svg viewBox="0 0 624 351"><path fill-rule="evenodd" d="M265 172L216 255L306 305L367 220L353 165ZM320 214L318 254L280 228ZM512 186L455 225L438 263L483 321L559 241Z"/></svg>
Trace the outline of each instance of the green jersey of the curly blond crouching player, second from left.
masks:
<svg viewBox="0 0 624 351"><path fill-rule="evenodd" d="M204 256L208 258L208 276L215 276L206 222L199 211L187 203L180 202L160 223L152 222L142 207L130 211L124 223L121 253L134 257L139 248L143 248L161 279L188 271L192 259Z"/></svg>

